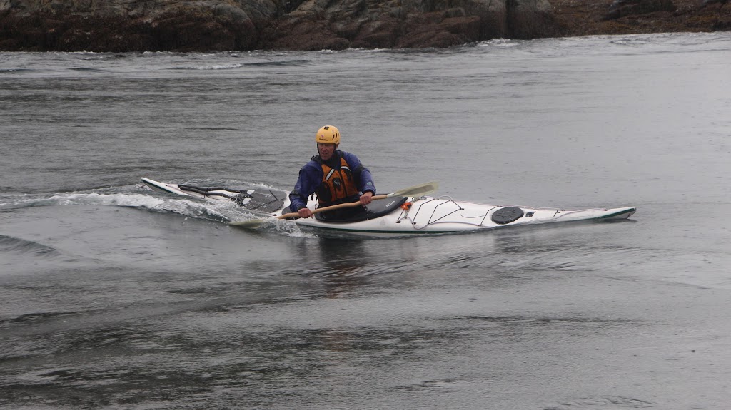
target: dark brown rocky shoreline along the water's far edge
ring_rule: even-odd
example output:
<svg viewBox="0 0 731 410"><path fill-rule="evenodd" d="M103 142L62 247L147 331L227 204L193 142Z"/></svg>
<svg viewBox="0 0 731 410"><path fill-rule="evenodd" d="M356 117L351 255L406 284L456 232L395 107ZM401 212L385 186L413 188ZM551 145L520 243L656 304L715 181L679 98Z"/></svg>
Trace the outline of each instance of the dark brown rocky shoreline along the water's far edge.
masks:
<svg viewBox="0 0 731 410"><path fill-rule="evenodd" d="M0 0L2 51L344 50L731 31L730 0Z"/></svg>

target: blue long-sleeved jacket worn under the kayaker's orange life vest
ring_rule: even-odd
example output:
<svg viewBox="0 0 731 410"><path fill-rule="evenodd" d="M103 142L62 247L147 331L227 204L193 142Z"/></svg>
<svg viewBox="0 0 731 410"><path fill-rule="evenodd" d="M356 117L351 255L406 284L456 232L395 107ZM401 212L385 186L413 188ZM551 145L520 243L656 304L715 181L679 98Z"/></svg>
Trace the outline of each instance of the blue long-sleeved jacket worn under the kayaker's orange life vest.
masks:
<svg viewBox="0 0 731 410"><path fill-rule="evenodd" d="M360 163L360 160L355 155L341 150L338 150L337 153L340 155L340 158L344 158L345 162L348 163L348 167L357 181L360 192L366 193L366 191L371 191L376 195L376 185L373 183L371 171L368 171L366 166L363 166L363 163ZM307 197L311 196L317 190L317 187L322 184L322 177L324 176L322 166L314 160L317 157L312 158L310 162L306 163L300 169L300 176L297 178L295 189L292 190L292 193L289 193L289 201L291 202L289 209L292 212L297 212L307 206Z"/></svg>

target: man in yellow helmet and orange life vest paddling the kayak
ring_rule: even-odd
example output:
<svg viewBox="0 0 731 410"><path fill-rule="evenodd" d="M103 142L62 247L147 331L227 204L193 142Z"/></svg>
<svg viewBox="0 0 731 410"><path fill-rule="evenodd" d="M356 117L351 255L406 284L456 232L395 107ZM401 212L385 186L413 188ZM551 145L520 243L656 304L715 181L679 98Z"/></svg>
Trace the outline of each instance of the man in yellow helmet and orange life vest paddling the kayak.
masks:
<svg viewBox="0 0 731 410"><path fill-rule="evenodd" d="M362 206L323 212L329 220L342 220L364 212L376 193L371 171L349 152L338 150L340 131L325 125L315 135L317 153L300 169L295 189L289 193L289 209L308 218L307 197L317 193L319 207L360 201Z"/></svg>

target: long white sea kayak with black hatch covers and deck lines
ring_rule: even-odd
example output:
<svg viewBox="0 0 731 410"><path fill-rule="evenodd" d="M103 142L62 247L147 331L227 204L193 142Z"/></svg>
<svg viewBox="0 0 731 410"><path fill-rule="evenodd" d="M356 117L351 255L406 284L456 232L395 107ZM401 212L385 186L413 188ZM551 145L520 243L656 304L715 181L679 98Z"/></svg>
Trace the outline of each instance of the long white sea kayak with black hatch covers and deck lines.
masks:
<svg viewBox="0 0 731 410"><path fill-rule="evenodd" d="M157 182L148 178L142 178L142 181L148 187L167 193L213 201L235 201L243 208L272 220L289 212L289 197L285 191L194 187ZM314 209L316 206L316 198L311 198L308 207ZM353 220L331 221L327 220L326 213L322 213L292 222L303 231L316 234L384 237L458 233L540 223L626 219L636 211L635 206L545 209L477 204L455 201L444 196L405 196L373 201L368 205L367 212L362 212Z"/></svg>

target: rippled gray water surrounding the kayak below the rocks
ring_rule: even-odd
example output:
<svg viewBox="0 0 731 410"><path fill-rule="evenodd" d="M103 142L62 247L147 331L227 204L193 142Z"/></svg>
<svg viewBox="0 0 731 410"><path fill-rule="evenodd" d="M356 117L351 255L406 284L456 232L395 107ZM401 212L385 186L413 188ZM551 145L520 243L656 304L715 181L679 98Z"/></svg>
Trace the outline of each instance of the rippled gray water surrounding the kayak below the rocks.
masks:
<svg viewBox="0 0 731 410"><path fill-rule="evenodd" d="M0 53L0 407L728 409L731 35ZM140 177L630 220L333 240Z"/></svg>

